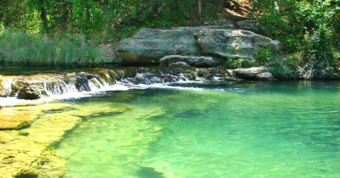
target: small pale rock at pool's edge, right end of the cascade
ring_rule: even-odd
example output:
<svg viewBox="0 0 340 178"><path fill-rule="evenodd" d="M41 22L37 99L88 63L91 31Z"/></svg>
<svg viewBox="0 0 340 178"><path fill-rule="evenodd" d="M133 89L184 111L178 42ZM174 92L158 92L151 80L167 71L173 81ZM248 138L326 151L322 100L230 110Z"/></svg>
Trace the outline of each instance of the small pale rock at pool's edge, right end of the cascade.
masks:
<svg viewBox="0 0 340 178"><path fill-rule="evenodd" d="M237 78L243 79L270 81L273 78L273 75L269 73L268 68L264 66L251 67L246 69L235 69L234 73Z"/></svg>

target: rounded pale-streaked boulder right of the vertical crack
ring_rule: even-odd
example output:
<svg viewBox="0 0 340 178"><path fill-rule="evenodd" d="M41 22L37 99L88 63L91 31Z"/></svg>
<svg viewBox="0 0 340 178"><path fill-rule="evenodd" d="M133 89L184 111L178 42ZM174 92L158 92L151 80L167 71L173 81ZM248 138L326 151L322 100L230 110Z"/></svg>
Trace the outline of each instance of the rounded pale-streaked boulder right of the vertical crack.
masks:
<svg viewBox="0 0 340 178"><path fill-rule="evenodd" d="M280 42L248 30L203 29L196 37L203 54L219 57L251 58L263 45L280 50Z"/></svg>

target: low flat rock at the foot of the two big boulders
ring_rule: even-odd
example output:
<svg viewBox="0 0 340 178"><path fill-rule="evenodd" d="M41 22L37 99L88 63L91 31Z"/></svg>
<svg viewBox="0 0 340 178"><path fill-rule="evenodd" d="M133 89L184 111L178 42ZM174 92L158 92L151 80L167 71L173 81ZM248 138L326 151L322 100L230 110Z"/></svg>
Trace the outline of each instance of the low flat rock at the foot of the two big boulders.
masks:
<svg viewBox="0 0 340 178"><path fill-rule="evenodd" d="M159 59L159 63L161 66L174 66L174 64L178 64L179 62L186 63L190 66L200 66L200 67L211 67L215 66L216 62L212 57L193 57L193 56L179 56L179 55L170 55L166 57L162 57Z"/></svg>

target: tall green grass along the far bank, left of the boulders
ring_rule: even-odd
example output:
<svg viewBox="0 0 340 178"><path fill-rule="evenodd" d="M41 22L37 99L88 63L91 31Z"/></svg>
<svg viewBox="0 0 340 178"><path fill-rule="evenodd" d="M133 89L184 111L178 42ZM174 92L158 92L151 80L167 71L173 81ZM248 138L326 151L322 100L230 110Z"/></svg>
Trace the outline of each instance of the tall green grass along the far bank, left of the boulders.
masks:
<svg viewBox="0 0 340 178"><path fill-rule="evenodd" d="M105 62L96 47L81 45L80 37L47 37L11 30L0 36L0 54L6 64L59 66Z"/></svg>

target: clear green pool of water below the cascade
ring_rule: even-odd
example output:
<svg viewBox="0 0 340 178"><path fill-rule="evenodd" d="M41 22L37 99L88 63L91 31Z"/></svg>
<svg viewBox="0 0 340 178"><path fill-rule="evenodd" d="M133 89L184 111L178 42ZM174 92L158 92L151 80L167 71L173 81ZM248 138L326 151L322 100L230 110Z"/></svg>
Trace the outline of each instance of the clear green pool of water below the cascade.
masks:
<svg viewBox="0 0 340 178"><path fill-rule="evenodd" d="M65 101L90 113L57 146L66 177L340 177L339 82L181 87Z"/></svg>

